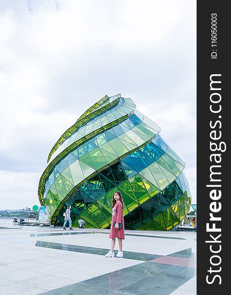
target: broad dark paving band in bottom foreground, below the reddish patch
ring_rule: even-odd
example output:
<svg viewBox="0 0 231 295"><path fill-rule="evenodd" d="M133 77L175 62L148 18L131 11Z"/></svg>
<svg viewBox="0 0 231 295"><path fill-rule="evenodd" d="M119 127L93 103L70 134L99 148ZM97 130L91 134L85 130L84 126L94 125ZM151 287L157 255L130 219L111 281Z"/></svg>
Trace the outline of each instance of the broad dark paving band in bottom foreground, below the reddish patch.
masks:
<svg viewBox="0 0 231 295"><path fill-rule="evenodd" d="M144 262L43 295L169 295L196 274L192 267Z"/></svg>

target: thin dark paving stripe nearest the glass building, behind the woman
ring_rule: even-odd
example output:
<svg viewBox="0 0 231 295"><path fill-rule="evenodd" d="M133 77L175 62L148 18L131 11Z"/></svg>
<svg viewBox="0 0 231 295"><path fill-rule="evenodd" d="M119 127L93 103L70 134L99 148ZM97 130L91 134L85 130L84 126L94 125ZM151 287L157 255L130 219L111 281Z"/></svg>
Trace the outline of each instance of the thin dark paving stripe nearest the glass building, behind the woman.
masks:
<svg viewBox="0 0 231 295"><path fill-rule="evenodd" d="M106 234L109 235L108 233L105 232L63 232L63 233L49 233L49 234L37 234L37 236L67 236L67 235L86 235L86 234ZM34 234L31 234L32 236ZM125 236L143 236L143 237L154 237L154 238L167 238L167 239L177 239L177 240L186 240L183 237L174 237L174 236L150 236L150 235L138 235L138 234L126 234Z"/></svg>

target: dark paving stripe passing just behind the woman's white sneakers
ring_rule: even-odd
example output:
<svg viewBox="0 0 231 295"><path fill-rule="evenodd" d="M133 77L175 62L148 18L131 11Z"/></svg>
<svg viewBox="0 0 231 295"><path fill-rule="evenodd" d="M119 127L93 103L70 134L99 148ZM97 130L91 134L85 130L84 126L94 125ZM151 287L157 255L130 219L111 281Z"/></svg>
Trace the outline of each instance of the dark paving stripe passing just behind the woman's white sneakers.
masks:
<svg viewBox="0 0 231 295"><path fill-rule="evenodd" d="M35 246L64 250L64 251L103 255L103 256L108 252L108 249L61 244L61 243L46 242L46 241L37 241ZM161 255L123 251L123 257L126 259L149 261L149 260L152 260L155 258L159 258L159 257L161 257ZM109 259L109 258L105 258L105 259Z"/></svg>

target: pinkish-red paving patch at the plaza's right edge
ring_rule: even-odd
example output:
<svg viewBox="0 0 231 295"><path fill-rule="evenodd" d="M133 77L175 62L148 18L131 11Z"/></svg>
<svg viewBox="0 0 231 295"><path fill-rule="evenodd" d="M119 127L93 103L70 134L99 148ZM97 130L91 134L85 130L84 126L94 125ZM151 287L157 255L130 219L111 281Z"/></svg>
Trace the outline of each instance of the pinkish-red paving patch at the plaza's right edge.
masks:
<svg viewBox="0 0 231 295"><path fill-rule="evenodd" d="M175 266L187 266L187 267L196 267L197 261L192 258L184 258L184 257L173 257L173 256L162 256L149 262L153 263L163 263Z"/></svg>

